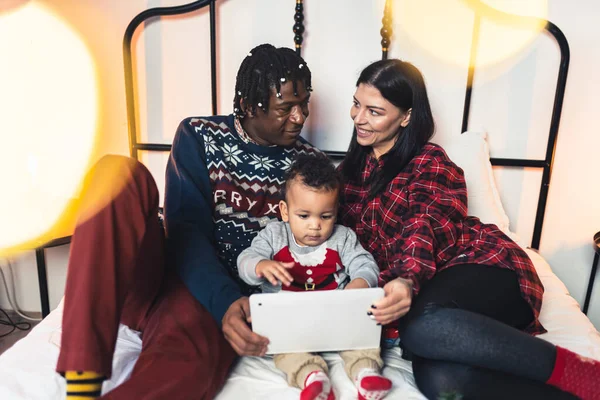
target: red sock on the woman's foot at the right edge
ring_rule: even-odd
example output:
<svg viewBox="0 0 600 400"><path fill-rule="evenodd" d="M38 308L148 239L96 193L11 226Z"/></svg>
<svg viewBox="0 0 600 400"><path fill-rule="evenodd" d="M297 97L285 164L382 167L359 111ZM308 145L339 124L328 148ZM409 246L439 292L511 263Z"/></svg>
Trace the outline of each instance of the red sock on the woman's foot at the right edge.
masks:
<svg viewBox="0 0 600 400"><path fill-rule="evenodd" d="M556 346L556 361L546 382L582 400L600 399L600 361Z"/></svg>

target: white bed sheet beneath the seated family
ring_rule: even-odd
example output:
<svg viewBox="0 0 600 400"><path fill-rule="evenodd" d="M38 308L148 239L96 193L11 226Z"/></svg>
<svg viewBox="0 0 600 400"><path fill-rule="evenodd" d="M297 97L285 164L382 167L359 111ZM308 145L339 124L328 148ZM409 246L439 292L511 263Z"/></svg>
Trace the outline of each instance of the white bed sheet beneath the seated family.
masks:
<svg viewBox="0 0 600 400"><path fill-rule="evenodd" d="M582 355L600 360L600 334L580 311L565 285L537 253L527 250L545 287L541 322L548 333L540 337ZM63 399L64 380L54 372L60 346L62 305L36 326L29 335L0 356L0 399ZM121 326L113 360L113 377L104 383L106 393L126 380L135 365L141 340ZM346 377L341 359L326 353L338 399L356 399L356 391ZM399 350L384 353L384 375L393 382L389 399L424 399L417 390L411 364ZM242 358L233 369L218 400L298 399L300 391L287 386L284 375L271 359Z"/></svg>

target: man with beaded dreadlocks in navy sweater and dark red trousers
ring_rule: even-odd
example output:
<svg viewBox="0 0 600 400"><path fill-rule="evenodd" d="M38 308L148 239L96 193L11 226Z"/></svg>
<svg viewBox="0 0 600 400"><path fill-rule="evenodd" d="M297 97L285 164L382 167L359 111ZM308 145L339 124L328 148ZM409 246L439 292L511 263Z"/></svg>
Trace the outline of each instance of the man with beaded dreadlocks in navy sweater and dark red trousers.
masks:
<svg viewBox="0 0 600 400"><path fill-rule="evenodd" d="M166 172L166 251L148 170L106 156L90 171L56 367L67 399L100 396L119 323L141 332L142 351L106 398L212 399L236 353L265 354L268 340L248 326L252 288L236 259L280 217L279 189L295 156L317 152L299 136L310 91L304 60L263 44L240 66L232 115L181 122Z"/></svg>

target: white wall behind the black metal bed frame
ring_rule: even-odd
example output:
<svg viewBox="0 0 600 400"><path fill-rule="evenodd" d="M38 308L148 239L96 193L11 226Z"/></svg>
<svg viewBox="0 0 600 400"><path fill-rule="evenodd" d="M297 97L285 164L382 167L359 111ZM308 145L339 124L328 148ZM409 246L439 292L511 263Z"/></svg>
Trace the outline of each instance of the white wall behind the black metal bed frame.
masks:
<svg viewBox="0 0 600 400"><path fill-rule="evenodd" d="M101 140L95 157L109 152L127 154L123 32L140 11L184 1L39 1L51 6L73 25L95 56L101 90ZM220 0L217 3L218 106L219 112L229 113L235 73L248 50L263 42L293 47L291 27L295 1ZM379 29L384 1L355 0L351 7L348 3L307 0L305 4L308 34L303 55L313 71L315 92L304 135L327 150L346 148L351 131L348 111L354 82L358 72L381 55ZM407 3L400 2L399 13ZM342 17L342 13L345 16ZM427 17L434 18L435 14L436 8L430 7ZM593 173L593 160L600 150L600 135L596 133L600 108L600 80L596 75L600 70L600 53L595 51L600 37L598 16L600 3L594 0L549 0L548 19L558 25L569 40L571 64L541 253L580 303L583 303L593 258L591 238L600 230L600 205L597 204L600 186ZM147 23L146 29L143 32L140 29L136 35L139 126L143 138L169 143L182 118L210 114L208 20L208 10L185 18L164 18ZM457 134L467 70L464 66L440 61L422 49L401 22L401 18L396 18L391 56L409 60L423 71L437 134ZM463 25L458 27L448 21L448 30L458 28L470 31L470 26L468 29ZM444 30L432 34L444 35ZM468 56L467 46L457 46L457 59L466 62ZM493 156L543 155L556 71L557 48L545 36L502 65L478 70L470 127L489 133ZM166 157L151 155L145 160L162 190ZM536 171L497 170L511 228L527 239L533 229L532 213L539 178ZM67 247L49 252L52 305L57 304L64 287L66 258ZM17 286L21 306L26 310L39 310L34 259L29 254L17 260ZM595 292L589 314L600 327L600 288ZM7 306L2 296L0 306Z"/></svg>

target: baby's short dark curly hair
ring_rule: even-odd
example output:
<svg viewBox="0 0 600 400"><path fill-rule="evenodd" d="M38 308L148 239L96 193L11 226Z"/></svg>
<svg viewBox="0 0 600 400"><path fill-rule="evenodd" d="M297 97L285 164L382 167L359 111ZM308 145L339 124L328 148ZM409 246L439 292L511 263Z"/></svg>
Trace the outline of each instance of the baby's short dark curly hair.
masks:
<svg viewBox="0 0 600 400"><path fill-rule="evenodd" d="M342 178L331 162L323 153L299 154L292 166L284 175L285 184L281 188L281 198L285 200L288 186L295 179L311 189L330 192L338 190Z"/></svg>

